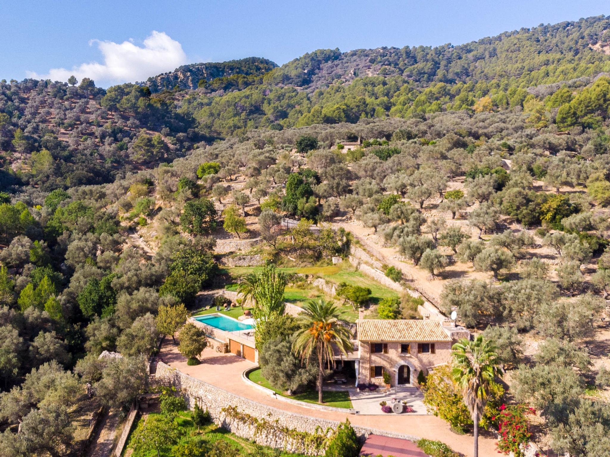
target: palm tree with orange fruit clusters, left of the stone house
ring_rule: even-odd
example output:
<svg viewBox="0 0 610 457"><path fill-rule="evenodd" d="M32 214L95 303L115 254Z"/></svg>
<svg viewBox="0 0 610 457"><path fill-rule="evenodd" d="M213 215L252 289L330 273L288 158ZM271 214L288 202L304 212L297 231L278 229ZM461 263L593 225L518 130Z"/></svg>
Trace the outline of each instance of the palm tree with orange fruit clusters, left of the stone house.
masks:
<svg viewBox="0 0 610 457"><path fill-rule="evenodd" d="M312 355L318 358L318 403L322 403L322 383L324 380L325 362L334 366L333 348L337 347L342 355L353 352L351 343L353 335L339 319L339 308L326 300L310 300L304 311L299 314L301 329L296 331L292 350L309 364Z"/></svg>

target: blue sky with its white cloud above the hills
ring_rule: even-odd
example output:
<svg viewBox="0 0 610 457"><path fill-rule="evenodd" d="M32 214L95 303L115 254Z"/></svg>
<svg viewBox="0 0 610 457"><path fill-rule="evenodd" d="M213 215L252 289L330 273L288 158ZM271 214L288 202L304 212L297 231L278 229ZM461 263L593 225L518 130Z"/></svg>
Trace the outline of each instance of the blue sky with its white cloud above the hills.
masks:
<svg viewBox="0 0 610 457"><path fill-rule="evenodd" d="M601 14L607 0L20 0L0 9L0 78L91 73L107 87L181 63L255 55L281 65L318 48L461 44Z"/></svg>

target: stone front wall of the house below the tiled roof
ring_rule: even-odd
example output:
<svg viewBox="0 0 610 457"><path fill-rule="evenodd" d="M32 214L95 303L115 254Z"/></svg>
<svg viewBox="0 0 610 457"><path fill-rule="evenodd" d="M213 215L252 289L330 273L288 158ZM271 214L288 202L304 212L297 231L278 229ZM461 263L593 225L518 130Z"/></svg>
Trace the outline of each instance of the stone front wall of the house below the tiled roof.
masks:
<svg viewBox="0 0 610 457"><path fill-rule="evenodd" d="M373 342L374 343L374 342ZM451 345L453 342L442 341L434 343L434 353L418 353L418 342L404 341L409 344L409 352L401 352L401 342L387 342L387 353L371 352L370 341L358 342L358 353L360 360L360 370L358 383L372 383L379 386L384 384L383 377L371 377L370 367L381 366L383 371L390 374L390 384L397 385L398 370L400 366L404 368L404 376L409 374L409 382L404 385L417 385L417 375L421 370L424 374L428 373L431 367L448 363L451 361Z"/></svg>

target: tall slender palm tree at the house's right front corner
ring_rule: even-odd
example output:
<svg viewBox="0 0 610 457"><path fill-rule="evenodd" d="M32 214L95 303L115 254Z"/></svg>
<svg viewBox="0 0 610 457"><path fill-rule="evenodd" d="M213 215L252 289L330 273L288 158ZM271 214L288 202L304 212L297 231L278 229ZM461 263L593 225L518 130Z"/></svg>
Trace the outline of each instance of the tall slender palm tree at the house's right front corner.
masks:
<svg viewBox="0 0 610 457"><path fill-rule="evenodd" d="M451 375L462 391L464 403L475 424L475 457L479 455L479 420L487 405L490 388L495 378L501 377L495 345L479 335L474 341L461 339L451 347L453 370Z"/></svg>

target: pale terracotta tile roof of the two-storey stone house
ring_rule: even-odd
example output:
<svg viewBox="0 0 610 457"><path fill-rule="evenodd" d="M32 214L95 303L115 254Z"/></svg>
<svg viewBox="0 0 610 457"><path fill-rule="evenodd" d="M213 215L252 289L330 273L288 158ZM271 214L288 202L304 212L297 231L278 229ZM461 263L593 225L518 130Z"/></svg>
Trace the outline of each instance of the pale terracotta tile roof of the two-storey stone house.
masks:
<svg viewBox="0 0 610 457"><path fill-rule="evenodd" d="M440 321L358 319L360 341L451 341Z"/></svg>

